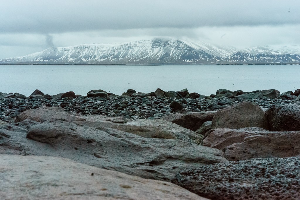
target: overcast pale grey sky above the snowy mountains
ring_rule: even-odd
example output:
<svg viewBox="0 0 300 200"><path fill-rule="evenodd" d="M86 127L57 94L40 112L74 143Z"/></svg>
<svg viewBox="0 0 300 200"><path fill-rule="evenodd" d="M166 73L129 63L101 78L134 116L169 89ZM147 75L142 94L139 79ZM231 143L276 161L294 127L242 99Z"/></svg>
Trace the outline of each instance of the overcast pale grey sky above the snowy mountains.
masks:
<svg viewBox="0 0 300 200"><path fill-rule="evenodd" d="M299 0L1 0L0 58L153 37L300 45Z"/></svg>

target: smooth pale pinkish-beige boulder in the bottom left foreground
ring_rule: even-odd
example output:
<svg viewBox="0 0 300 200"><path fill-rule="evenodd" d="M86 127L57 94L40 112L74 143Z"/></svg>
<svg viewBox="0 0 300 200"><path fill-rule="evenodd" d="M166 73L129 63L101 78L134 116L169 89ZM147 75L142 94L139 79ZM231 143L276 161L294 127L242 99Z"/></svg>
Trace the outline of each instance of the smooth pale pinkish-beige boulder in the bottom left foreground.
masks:
<svg viewBox="0 0 300 200"><path fill-rule="evenodd" d="M1 199L205 200L175 184L65 158L0 155L0 160Z"/></svg>

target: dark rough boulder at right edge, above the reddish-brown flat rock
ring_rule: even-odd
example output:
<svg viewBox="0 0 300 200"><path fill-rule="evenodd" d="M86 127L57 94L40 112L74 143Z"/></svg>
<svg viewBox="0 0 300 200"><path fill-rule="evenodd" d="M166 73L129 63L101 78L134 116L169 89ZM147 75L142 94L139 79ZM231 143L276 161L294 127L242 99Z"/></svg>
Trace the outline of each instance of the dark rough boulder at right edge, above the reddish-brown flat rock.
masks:
<svg viewBox="0 0 300 200"><path fill-rule="evenodd" d="M265 112L271 131L300 130L300 104L277 104Z"/></svg>

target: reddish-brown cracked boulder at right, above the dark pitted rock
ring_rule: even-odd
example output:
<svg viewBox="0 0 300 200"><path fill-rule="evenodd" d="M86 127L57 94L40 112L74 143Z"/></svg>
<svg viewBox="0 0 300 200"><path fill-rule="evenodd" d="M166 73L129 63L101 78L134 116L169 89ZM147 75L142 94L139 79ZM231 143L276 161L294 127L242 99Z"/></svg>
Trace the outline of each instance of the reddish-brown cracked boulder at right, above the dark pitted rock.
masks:
<svg viewBox="0 0 300 200"><path fill-rule="evenodd" d="M300 131L270 132L262 128L214 129L203 145L225 152L228 160L300 156Z"/></svg>

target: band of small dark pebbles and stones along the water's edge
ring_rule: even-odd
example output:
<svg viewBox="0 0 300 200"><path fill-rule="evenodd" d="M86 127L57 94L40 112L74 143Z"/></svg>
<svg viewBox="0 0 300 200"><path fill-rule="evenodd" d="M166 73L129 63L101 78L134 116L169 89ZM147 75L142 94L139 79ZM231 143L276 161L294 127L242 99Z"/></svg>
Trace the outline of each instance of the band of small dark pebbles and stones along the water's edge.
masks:
<svg viewBox="0 0 300 200"><path fill-rule="evenodd" d="M105 115L131 119L160 119L164 115L177 112L217 111L238 102L250 101L267 109L278 103L292 103L300 100L300 90L279 91L262 90L243 92L220 89L216 94L204 96L181 91L163 91L142 93L129 89L122 95L107 93L103 90L91 90L86 96L66 92L50 96L35 90L29 97L19 93L3 94L0 92L0 120L11 122L21 112L41 106L60 106L65 111L81 115Z"/></svg>

